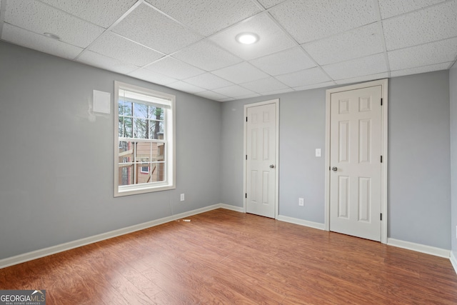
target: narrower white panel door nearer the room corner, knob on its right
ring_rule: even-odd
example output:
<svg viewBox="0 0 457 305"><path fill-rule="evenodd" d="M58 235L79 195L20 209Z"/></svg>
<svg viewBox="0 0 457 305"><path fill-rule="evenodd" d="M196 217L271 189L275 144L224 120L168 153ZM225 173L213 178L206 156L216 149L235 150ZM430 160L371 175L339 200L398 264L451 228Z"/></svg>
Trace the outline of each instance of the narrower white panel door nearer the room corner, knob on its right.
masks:
<svg viewBox="0 0 457 305"><path fill-rule="evenodd" d="M247 108L246 212L276 216L276 104Z"/></svg>

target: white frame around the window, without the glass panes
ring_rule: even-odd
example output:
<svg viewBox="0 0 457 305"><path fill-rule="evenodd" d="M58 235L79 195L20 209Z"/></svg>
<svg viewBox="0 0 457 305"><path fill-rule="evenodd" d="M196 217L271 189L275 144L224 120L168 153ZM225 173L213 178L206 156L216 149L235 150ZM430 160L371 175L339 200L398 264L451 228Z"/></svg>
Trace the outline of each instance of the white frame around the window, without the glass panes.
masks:
<svg viewBox="0 0 457 305"><path fill-rule="evenodd" d="M164 101L164 138L165 146L165 178L164 181L146 184L119 185L119 90L133 91L147 96L153 96ZM157 102L154 102L155 104ZM160 103L160 101L159 101ZM147 103L145 103L147 104ZM144 194L153 191L176 189L176 96L163 92L146 89L140 86L114 81L114 196ZM166 106L166 107L165 107ZM167 108L168 107L168 108ZM122 138L121 138L122 139Z"/></svg>

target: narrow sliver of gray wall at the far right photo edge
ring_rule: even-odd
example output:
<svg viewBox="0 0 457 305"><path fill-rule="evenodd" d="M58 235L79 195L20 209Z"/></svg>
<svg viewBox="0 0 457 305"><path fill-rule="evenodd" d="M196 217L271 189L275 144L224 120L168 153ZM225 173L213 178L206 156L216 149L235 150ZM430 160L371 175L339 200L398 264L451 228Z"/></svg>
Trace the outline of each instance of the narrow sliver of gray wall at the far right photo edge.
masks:
<svg viewBox="0 0 457 305"><path fill-rule="evenodd" d="M449 71L451 99L451 240L452 251L457 257L457 64Z"/></svg>

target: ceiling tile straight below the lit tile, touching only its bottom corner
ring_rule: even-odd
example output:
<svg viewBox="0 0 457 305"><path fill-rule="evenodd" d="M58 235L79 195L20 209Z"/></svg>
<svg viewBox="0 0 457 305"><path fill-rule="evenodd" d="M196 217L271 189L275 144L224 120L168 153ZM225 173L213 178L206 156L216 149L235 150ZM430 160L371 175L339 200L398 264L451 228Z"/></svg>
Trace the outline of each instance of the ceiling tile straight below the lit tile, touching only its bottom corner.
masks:
<svg viewBox="0 0 457 305"><path fill-rule="evenodd" d="M231 81L235 84L247 83L248 81L256 81L257 79L265 79L268 77L268 74L260 71L251 64L248 64L246 61L212 71L211 73L221 76L223 79Z"/></svg>

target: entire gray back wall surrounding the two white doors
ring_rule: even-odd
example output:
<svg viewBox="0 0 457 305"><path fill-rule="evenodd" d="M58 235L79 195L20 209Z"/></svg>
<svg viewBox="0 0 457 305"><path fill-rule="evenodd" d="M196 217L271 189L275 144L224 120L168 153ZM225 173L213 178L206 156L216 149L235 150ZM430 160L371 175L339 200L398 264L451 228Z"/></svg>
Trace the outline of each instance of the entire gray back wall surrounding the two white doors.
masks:
<svg viewBox="0 0 457 305"><path fill-rule="evenodd" d="M388 236L451 249L448 71L389 81ZM243 105L280 98L279 213L324 222L325 91L222 105L222 201L243 206ZM305 206L298 206L303 196Z"/></svg>

